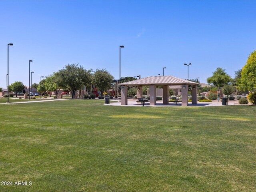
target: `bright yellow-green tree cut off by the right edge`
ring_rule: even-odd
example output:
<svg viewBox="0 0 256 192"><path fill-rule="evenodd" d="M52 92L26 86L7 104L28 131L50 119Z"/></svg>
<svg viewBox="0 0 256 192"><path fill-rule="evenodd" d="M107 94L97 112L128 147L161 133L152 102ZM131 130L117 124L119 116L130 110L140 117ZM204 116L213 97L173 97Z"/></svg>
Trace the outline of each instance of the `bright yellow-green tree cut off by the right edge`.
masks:
<svg viewBox="0 0 256 192"><path fill-rule="evenodd" d="M246 65L242 68L239 87L249 91L256 89L256 50L250 54Z"/></svg>

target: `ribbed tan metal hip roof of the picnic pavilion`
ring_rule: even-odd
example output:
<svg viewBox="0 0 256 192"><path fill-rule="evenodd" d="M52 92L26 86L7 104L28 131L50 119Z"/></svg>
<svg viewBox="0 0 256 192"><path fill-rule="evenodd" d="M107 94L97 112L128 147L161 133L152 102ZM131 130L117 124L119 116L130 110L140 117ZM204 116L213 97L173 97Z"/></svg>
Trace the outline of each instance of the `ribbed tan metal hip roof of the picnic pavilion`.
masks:
<svg viewBox="0 0 256 192"><path fill-rule="evenodd" d="M120 85L149 86L149 85L198 85L198 83L177 78L174 76L150 76L133 81L120 83Z"/></svg>

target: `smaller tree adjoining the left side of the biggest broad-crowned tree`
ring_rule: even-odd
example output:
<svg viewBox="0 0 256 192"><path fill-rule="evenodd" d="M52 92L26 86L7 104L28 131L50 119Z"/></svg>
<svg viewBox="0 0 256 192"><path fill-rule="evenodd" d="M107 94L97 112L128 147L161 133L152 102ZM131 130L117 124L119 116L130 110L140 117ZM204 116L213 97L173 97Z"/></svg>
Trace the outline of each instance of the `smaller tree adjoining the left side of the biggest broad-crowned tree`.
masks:
<svg viewBox="0 0 256 192"><path fill-rule="evenodd" d="M46 90L55 91L56 95L58 95L59 90L64 87L64 85L58 80L58 72L54 72L53 75L46 76L44 85Z"/></svg>

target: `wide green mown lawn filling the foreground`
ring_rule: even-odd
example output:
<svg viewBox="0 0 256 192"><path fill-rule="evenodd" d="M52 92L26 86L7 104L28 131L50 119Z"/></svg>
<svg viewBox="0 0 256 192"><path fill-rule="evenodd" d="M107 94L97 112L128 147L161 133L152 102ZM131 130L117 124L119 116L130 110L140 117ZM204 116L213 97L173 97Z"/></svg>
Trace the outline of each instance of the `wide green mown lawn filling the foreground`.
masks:
<svg viewBox="0 0 256 192"><path fill-rule="evenodd" d="M0 105L0 191L256 191L256 107Z"/></svg>

